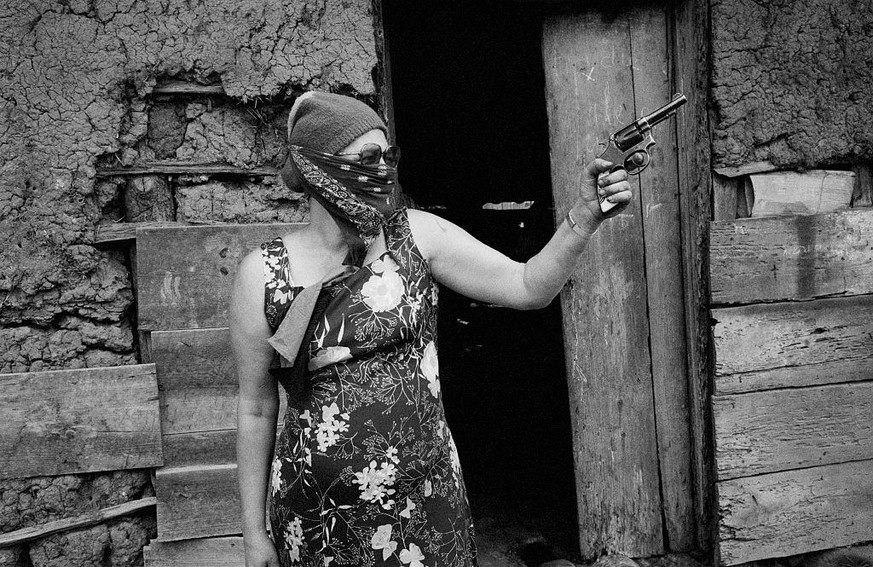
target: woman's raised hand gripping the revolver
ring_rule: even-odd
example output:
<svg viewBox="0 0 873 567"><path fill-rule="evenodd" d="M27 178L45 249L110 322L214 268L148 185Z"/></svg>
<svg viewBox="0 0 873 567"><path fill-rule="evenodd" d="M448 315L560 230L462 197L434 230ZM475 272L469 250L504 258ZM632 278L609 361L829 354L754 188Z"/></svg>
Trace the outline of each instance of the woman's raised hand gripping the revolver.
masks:
<svg viewBox="0 0 873 567"><path fill-rule="evenodd" d="M612 217L627 208L633 199L627 171L619 169L609 173L612 163L595 158L582 172L582 187L579 200L573 205L573 217L577 223L593 234L603 219ZM607 214L600 209L598 196L616 203Z"/></svg>

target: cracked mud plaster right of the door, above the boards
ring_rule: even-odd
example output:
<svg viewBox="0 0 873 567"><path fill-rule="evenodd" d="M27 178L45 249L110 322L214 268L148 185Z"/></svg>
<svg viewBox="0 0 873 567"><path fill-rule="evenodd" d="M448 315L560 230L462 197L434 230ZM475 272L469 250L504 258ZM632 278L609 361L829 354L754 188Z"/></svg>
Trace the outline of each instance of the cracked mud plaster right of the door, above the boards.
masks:
<svg viewBox="0 0 873 567"><path fill-rule="evenodd" d="M714 167L873 159L873 2L712 3Z"/></svg>

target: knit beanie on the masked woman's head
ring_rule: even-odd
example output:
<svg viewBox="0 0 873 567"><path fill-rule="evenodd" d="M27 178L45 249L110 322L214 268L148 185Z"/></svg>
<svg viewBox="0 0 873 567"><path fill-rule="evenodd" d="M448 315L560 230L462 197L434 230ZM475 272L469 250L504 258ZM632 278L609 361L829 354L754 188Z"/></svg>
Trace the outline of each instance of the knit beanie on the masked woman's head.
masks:
<svg viewBox="0 0 873 567"><path fill-rule="evenodd" d="M370 130L387 134L385 122L363 102L352 97L309 91L288 115L288 142L335 154Z"/></svg>

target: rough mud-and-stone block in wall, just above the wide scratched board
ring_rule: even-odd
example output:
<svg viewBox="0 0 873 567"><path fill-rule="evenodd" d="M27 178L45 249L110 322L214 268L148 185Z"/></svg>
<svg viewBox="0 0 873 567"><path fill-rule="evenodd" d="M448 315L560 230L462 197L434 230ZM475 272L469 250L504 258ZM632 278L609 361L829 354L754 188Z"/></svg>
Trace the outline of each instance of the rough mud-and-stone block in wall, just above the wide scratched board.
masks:
<svg viewBox="0 0 873 567"><path fill-rule="evenodd" d="M188 222L303 222L307 213L303 194L275 178L183 185L176 188L176 203L177 220Z"/></svg>

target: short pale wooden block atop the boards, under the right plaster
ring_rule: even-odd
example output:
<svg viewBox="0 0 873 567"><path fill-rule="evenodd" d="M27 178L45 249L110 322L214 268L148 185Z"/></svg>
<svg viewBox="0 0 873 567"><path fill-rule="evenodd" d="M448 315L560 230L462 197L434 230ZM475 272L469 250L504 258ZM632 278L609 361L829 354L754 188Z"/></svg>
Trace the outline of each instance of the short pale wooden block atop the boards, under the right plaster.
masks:
<svg viewBox="0 0 873 567"><path fill-rule="evenodd" d="M780 171L750 175L755 193L753 217L813 215L849 208L855 174L851 171Z"/></svg>

